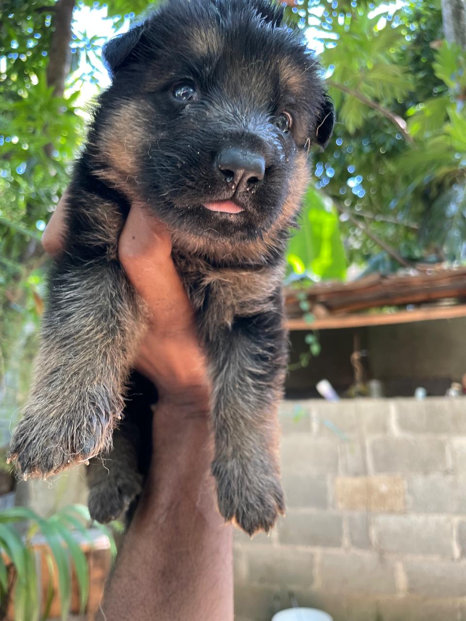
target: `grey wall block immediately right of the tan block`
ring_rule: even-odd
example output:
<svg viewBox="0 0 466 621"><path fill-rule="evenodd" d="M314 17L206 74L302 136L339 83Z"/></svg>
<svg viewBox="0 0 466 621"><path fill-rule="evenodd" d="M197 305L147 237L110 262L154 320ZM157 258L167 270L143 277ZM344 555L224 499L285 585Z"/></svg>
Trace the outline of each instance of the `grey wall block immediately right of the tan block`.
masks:
<svg viewBox="0 0 466 621"><path fill-rule="evenodd" d="M466 482L440 473L410 476L406 508L418 513L466 514Z"/></svg>

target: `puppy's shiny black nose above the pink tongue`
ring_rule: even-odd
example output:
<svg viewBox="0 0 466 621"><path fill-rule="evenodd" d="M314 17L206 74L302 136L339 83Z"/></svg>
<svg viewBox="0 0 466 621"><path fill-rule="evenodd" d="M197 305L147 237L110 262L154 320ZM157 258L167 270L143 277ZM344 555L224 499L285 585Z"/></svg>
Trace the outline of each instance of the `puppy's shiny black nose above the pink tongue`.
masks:
<svg viewBox="0 0 466 621"><path fill-rule="evenodd" d="M222 150L217 156L216 166L231 189L239 192L255 189L265 173L262 155L245 149Z"/></svg>

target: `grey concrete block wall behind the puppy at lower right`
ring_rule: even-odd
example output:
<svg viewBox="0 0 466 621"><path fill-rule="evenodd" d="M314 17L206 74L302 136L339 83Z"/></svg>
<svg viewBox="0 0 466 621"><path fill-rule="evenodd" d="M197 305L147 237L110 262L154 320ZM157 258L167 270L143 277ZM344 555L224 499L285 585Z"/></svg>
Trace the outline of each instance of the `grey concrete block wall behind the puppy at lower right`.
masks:
<svg viewBox="0 0 466 621"><path fill-rule="evenodd" d="M466 399L287 401L286 518L235 534L237 621L466 621Z"/></svg>

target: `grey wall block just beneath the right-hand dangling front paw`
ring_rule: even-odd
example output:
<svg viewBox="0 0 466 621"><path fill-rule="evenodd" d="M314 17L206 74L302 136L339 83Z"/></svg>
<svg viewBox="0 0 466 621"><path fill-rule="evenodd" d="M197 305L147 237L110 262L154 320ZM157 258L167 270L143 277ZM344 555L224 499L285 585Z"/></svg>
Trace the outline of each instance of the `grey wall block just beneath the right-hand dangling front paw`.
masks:
<svg viewBox="0 0 466 621"><path fill-rule="evenodd" d="M310 588L313 584L314 556L308 550L250 548L244 550L250 582Z"/></svg>

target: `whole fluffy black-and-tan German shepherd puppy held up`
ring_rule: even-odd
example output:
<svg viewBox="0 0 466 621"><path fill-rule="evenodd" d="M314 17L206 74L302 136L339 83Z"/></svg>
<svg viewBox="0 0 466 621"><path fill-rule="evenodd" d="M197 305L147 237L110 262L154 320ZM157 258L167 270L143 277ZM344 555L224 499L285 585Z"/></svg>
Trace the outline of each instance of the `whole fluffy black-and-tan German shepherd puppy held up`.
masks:
<svg viewBox="0 0 466 621"><path fill-rule="evenodd" d="M219 510L249 534L283 512L284 254L309 146L326 145L334 113L302 33L282 19L268 0L171 0L104 48L112 85L75 165L34 386L11 442L23 476L112 449L145 325L117 255L139 199L171 230L208 355ZM123 426L110 473L92 466L99 520L140 490L134 438Z"/></svg>

